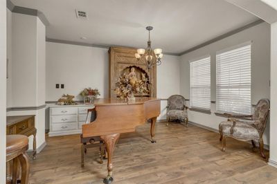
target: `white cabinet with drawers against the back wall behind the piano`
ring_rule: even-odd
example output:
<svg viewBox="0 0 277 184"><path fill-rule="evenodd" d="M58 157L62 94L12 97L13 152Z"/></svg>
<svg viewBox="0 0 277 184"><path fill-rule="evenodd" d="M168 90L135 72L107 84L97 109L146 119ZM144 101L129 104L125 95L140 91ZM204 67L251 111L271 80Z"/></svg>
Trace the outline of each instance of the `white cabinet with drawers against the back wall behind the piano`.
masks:
<svg viewBox="0 0 277 184"><path fill-rule="evenodd" d="M64 136L80 134L82 125L87 119L87 109L93 109L93 105L54 105L49 107L50 131L49 136Z"/></svg>

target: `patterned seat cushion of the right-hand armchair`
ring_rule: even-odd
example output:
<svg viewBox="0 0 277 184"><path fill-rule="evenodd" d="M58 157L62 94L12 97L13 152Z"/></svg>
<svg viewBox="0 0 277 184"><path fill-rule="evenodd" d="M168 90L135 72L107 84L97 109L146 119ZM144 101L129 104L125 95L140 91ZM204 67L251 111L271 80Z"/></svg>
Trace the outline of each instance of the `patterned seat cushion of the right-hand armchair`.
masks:
<svg viewBox="0 0 277 184"><path fill-rule="evenodd" d="M231 135L234 138L249 138L249 139L259 139L260 135L258 129L254 127L253 124L249 122L236 121L235 127L233 128L233 134L231 132L231 127L233 122L224 121L220 123L220 132L224 135Z"/></svg>

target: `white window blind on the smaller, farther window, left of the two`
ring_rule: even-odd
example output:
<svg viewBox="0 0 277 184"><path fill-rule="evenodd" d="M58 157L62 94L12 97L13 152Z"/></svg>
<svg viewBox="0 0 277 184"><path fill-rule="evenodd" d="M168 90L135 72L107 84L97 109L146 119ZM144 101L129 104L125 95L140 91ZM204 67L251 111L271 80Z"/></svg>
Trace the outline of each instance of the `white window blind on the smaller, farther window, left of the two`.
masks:
<svg viewBox="0 0 277 184"><path fill-rule="evenodd" d="M190 107L211 109L211 57L190 62Z"/></svg>

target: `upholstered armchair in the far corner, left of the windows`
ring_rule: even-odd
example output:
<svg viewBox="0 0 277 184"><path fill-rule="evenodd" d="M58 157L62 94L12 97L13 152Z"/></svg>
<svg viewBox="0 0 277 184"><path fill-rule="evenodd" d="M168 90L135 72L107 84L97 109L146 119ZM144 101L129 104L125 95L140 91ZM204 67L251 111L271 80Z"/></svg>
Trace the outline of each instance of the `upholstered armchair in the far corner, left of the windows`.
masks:
<svg viewBox="0 0 277 184"><path fill-rule="evenodd" d="M186 99L182 95L172 95L168 98L168 106L166 107L166 119L170 121L185 122L188 127L188 107L186 107ZM168 125L168 123L167 123Z"/></svg>

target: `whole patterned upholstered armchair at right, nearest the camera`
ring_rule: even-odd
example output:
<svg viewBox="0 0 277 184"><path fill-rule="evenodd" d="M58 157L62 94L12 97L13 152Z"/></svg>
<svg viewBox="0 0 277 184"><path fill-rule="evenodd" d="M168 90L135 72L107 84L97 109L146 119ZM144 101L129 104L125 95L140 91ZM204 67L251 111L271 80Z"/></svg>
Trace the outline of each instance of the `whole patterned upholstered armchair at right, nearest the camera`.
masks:
<svg viewBox="0 0 277 184"><path fill-rule="evenodd" d="M222 151L226 151L226 137L232 137L237 140L251 140L253 147L256 147L255 140L259 142L260 154L262 158L266 158L264 154L264 141L262 134L265 131L265 125L269 116L269 100L259 100L252 115L232 115L225 113L229 119L220 122L220 141L222 141ZM249 118L249 119L247 119Z"/></svg>

